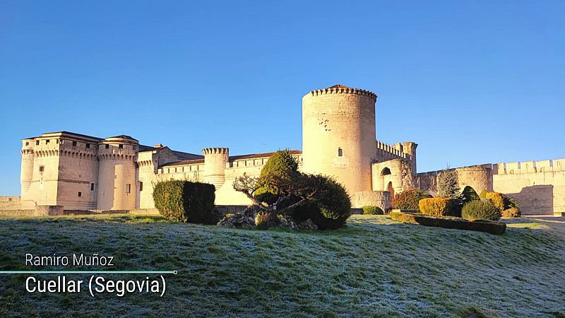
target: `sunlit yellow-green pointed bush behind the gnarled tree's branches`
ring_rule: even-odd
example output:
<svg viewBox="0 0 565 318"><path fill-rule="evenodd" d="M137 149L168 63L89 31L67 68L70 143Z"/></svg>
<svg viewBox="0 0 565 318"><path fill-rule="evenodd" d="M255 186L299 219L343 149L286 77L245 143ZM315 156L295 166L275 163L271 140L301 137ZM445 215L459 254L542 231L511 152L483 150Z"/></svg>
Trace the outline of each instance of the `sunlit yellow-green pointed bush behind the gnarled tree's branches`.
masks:
<svg viewBox="0 0 565 318"><path fill-rule="evenodd" d="M292 158L290 151L285 149L283 151L277 151L270 156L267 163L261 169L261 175L259 179L263 181L266 178L278 177L278 178L290 178L292 172L298 171L298 161ZM254 196L258 201L266 202L267 204L273 204L277 201L280 196L280 189L274 187L273 185L266 185L256 190Z"/></svg>

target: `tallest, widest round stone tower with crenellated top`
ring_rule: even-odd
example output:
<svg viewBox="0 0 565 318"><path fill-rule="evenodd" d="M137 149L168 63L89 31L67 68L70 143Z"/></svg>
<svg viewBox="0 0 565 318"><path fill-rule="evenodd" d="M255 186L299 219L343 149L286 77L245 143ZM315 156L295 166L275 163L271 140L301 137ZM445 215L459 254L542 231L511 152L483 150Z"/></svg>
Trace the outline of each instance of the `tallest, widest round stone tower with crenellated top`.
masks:
<svg viewBox="0 0 565 318"><path fill-rule="evenodd" d="M332 86L302 98L302 170L334 176L350 195L371 190L376 94Z"/></svg>

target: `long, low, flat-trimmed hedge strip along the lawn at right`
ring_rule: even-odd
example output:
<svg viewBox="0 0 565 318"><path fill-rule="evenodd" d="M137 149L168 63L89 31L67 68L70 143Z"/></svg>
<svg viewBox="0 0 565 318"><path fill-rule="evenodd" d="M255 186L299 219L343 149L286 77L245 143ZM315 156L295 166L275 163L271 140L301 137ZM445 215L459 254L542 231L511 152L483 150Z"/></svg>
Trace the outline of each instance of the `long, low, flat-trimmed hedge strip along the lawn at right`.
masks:
<svg viewBox="0 0 565 318"><path fill-rule="evenodd" d="M506 232L506 223L488 220L464 220L463 218L433 217L422 214L402 213L391 211L391 218L401 223L433 226L436 228L451 228L456 230L472 230L491 234Z"/></svg>

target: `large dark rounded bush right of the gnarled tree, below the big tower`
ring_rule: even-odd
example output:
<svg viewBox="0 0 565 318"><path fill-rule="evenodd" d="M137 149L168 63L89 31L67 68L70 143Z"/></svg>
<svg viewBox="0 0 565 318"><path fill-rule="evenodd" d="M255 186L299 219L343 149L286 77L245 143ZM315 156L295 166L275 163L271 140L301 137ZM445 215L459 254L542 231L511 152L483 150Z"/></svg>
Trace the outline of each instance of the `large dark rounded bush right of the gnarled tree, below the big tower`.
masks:
<svg viewBox="0 0 565 318"><path fill-rule="evenodd" d="M308 178L308 183L316 188L311 190L318 193L319 199L312 204L295 208L292 211L292 219L297 223L311 219L319 230L343 227L351 216L351 200L343 185L333 177L323 175L302 174L302 177Z"/></svg>

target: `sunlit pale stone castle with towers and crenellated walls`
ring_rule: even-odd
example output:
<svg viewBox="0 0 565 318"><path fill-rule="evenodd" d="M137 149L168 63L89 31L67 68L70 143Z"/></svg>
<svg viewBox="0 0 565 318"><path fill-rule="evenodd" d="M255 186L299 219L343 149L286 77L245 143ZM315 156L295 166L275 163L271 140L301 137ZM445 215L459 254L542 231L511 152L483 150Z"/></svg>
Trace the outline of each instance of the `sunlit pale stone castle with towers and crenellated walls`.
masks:
<svg viewBox="0 0 565 318"><path fill-rule="evenodd" d="M411 141L376 140L377 96L368 90L332 86L302 98L302 151L292 155L303 172L331 175L350 194L355 208L387 209L395 193L420 188L436 194L441 172L417 173ZM230 155L205 148L202 155L144 146L131 136L106 139L67 131L23 139L19 208L64 206L68 210L154 208L153 185L164 179L208 182L216 204L248 205L232 182L258 176L273 153ZM565 211L565 159L499 163L456 169L461 189L469 185L509 194L525 214Z"/></svg>

